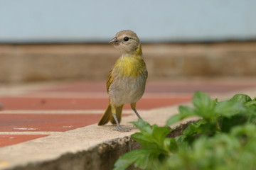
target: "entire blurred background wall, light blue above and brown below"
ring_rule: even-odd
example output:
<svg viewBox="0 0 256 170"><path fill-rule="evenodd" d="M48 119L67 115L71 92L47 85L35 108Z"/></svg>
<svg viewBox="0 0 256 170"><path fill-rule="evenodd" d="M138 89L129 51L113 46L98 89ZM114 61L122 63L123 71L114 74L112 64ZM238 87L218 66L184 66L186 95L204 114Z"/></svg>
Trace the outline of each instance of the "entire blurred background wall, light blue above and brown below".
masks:
<svg viewBox="0 0 256 170"><path fill-rule="evenodd" d="M256 76L254 0L0 0L0 82L102 79L134 30L149 79Z"/></svg>

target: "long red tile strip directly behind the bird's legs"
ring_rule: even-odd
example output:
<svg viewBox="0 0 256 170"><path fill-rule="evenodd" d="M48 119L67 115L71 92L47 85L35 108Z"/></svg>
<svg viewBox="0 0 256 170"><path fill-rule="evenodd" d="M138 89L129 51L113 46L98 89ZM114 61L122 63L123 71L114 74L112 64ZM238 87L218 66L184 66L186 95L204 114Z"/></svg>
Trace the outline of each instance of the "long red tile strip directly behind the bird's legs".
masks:
<svg viewBox="0 0 256 170"><path fill-rule="evenodd" d="M187 97L142 98L138 103L139 109L151 109L171 106L190 101ZM4 110L86 110L107 108L108 98L26 98L2 97L0 103ZM129 106L124 106L125 109Z"/></svg>

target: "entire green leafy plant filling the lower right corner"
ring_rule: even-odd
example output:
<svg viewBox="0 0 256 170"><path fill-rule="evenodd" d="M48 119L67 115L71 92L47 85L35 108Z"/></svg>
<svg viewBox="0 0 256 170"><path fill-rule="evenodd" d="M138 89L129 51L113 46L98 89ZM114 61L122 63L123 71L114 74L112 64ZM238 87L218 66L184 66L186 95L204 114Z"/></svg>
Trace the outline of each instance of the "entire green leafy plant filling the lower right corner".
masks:
<svg viewBox="0 0 256 170"><path fill-rule="evenodd" d="M132 138L141 149L128 152L114 164L115 170L133 164L139 169L255 169L256 98L237 94L218 102L197 91L193 107L179 106L166 126L133 122L140 132ZM197 116L178 137L166 137L170 125Z"/></svg>

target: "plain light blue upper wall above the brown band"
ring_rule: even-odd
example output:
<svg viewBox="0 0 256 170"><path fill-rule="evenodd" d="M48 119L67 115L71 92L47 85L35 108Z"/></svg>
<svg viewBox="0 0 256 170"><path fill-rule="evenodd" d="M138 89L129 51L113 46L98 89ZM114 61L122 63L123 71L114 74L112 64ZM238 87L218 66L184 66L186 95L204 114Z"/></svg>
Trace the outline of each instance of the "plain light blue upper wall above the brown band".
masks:
<svg viewBox="0 0 256 170"><path fill-rule="evenodd" d="M143 41L256 38L256 0L0 0L0 42L106 42L119 30Z"/></svg>

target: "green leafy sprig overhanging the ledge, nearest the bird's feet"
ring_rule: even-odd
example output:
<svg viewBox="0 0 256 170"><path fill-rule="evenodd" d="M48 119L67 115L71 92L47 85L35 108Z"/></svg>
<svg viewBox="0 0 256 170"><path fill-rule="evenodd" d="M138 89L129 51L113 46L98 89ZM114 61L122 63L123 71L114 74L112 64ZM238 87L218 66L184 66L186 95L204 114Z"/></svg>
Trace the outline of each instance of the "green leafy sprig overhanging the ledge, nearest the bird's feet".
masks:
<svg viewBox="0 0 256 170"><path fill-rule="evenodd" d="M151 126L143 120L138 120L132 124L141 131L134 133L132 138L141 143L142 149L124 154L115 164L116 169L126 169L133 163L134 166L141 169L154 169L157 168L159 162L169 157L177 149L176 141L166 138L166 135L171 132L169 127Z"/></svg>

